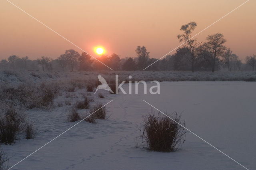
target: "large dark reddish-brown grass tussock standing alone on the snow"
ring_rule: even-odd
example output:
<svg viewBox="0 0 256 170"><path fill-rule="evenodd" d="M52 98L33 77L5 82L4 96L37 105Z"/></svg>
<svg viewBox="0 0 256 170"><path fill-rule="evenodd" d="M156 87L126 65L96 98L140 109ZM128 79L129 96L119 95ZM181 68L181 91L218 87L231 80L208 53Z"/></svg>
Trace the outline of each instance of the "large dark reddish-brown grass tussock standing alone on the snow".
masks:
<svg viewBox="0 0 256 170"><path fill-rule="evenodd" d="M173 120L185 126L176 112L170 115ZM173 152L185 142L186 130L165 115L150 113L144 119L142 142L146 142L149 150Z"/></svg>

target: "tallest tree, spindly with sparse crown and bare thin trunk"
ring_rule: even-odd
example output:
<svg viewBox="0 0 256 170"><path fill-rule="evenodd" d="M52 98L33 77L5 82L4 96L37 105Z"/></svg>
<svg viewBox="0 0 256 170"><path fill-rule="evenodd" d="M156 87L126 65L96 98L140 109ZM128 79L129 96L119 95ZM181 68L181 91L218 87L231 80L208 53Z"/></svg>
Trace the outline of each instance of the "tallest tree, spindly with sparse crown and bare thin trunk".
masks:
<svg viewBox="0 0 256 170"><path fill-rule="evenodd" d="M186 25L183 25L180 27L180 30L184 32L184 34L179 34L177 36L177 38L180 40L180 42L184 42L184 46L189 49L190 53L191 53L191 58L190 58L190 62L191 62L191 68L192 68L192 72L194 72L194 62L195 62L195 49L196 46L198 46L200 43L196 42L196 39L192 40L192 31L194 31L194 29L196 28L196 22L190 22Z"/></svg>

